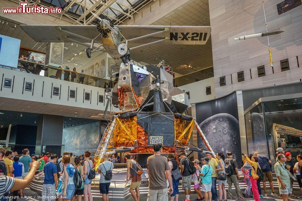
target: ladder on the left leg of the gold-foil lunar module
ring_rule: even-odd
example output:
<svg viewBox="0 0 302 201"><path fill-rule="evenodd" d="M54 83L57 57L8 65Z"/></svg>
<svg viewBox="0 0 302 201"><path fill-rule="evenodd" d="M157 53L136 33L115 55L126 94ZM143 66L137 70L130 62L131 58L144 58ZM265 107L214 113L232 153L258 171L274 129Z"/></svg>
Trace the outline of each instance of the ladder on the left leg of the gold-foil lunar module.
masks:
<svg viewBox="0 0 302 201"><path fill-rule="evenodd" d="M114 118L114 120L111 123L109 123L108 126L106 127L101 142L98 146L98 150L95 153L95 156L98 157L99 159L102 159L104 154L106 153L108 145L110 143L110 139L113 134L113 130L117 124L118 123L116 122L116 118Z"/></svg>

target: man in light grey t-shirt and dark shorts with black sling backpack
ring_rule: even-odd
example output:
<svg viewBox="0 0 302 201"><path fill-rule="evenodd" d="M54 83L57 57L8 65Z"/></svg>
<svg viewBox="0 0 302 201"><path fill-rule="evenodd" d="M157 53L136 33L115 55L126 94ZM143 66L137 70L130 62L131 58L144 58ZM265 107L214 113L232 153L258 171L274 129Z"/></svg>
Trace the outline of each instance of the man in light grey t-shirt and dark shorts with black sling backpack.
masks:
<svg viewBox="0 0 302 201"><path fill-rule="evenodd" d="M109 201L109 186L111 183L111 180L106 180L105 175L106 171L109 171L113 169L113 163L111 161L108 161L109 155L104 154L103 159L104 162L102 162L98 166L98 174L100 174L100 193L103 196L103 200ZM104 199L106 197L106 199Z"/></svg>

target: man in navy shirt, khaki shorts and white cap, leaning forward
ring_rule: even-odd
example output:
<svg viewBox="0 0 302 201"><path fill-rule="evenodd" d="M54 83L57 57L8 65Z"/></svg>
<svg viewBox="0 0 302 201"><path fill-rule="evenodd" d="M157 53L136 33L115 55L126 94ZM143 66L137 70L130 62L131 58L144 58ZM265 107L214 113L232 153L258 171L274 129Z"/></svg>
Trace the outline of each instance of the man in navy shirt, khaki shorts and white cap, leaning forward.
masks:
<svg viewBox="0 0 302 201"><path fill-rule="evenodd" d="M271 196L277 197L278 195L274 191L273 175L271 173L271 160L265 155L260 155L258 152L255 152L254 155L257 156L259 165L260 165L261 170L264 174L264 176L263 176L264 196L267 196L266 181L268 180L269 185L271 187Z"/></svg>

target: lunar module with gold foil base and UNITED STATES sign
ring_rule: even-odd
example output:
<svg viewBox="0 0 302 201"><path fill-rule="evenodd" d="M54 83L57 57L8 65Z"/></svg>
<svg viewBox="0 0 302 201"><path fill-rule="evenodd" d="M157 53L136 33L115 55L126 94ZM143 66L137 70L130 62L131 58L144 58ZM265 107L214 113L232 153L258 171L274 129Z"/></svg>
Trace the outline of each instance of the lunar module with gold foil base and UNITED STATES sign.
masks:
<svg viewBox="0 0 302 201"><path fill-rule="evenodd" d="M173 86L172 74L160 65L143 66L129 54L121 58L118 82L105 90L106 111L115 106L120 112L111 113L95 154L95 167L105 153L153 153L156 143L164 145L163 153L202 152L189 142L194 126L214 155L195 119L182 114L189 105L188 95Z"/></svg>

